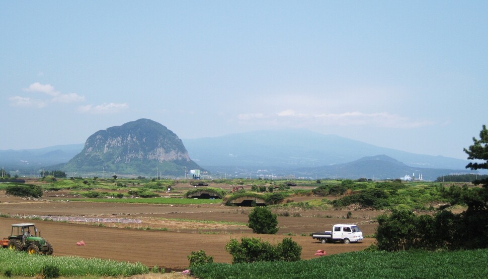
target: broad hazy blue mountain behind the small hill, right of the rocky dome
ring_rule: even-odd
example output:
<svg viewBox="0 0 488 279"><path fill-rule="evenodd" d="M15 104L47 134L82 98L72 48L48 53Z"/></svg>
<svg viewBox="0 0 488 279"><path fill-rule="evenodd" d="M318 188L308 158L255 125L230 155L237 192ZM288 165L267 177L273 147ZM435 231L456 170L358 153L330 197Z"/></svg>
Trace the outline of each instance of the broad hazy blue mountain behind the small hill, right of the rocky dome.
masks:
<svg viewBox="0 0 488 279"><path fill-rule="evenodd" d="M464 169L467 160L381 148L309 130L264 130L183 139L193 160L205 167L313 168L386 155L412 167Z"/></svg>

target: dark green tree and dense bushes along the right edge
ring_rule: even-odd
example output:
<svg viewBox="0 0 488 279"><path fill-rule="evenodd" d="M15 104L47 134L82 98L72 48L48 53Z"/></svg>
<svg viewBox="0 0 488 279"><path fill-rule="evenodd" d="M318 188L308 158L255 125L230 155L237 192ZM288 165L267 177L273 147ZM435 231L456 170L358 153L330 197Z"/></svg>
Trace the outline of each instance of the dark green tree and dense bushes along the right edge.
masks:
<svg viewBox="0 0 488 279"><path fill-rule="evenodd" d="M488 130L482 126L479 139L464 149L471 170L488 169ZM484 162L482 162L484 161ZM409 249L478 249L488 248L488 178L479 176L473 181L481 187L451 186L441 193L449 199L447 206L465 204L460 214L441 210L434 216L417 216L411 211L393 210L378 217L376 239L381 250Z"/></svg>

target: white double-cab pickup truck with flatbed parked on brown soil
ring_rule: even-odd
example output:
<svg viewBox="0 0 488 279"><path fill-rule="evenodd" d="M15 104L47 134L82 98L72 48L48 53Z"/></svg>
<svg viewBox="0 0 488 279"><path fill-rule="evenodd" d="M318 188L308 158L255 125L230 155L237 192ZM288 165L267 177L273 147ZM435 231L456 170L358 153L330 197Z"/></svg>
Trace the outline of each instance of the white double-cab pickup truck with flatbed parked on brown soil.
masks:
<svg viewBox="0 0 488 279"><path fill-rule="evenodd" d="M322 243L341 241L343 243L358 242L363 240L363 233L357 225L336 224L332 231L319 231L312 233L312 238Z"/></svg>

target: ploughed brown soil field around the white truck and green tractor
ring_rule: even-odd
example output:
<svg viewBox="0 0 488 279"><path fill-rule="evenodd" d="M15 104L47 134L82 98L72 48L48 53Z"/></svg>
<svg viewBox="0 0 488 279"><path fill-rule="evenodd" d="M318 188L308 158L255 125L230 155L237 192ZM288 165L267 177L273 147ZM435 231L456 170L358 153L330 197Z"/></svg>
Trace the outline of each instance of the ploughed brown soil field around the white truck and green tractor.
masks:
<svg viewBox="0 0 488 279"><path fill-rule="evenodd" d="M313 198L297 197L294 200L305 201ZM325 250L327 254L362 250L374 243L375 239L365 238L360 243L351 244L322 244L312 239L310 233L329 230L336 223L356 223L363 235L371 235L376 227L371 218L381 213L358 210L352 211L352 219L345 219L348 210L295 209L288 214L276 212L279 215L289 215L278 217L278 233L258 235L253 234L245 225L250 210L248 207L227 207L220 204L177 206L25 200L6 196L4 191L0 191L0 213L4 215L110 217L141 221L100 225L0 217L0 237L10 235L10 225L13 223L34 222L41 235L53 244L54 256L72 255L141 262L150 267L164 267L169 271L187 269L187 256L200 249L213 256L214 262L230 263L231 256L225 251L225 244L231 238L239 240L241 237L259 237L276 244L285 237L291 237L302 246L302 259L316 257L314 253L319 249ZM86 243L85 246L76 245L81 240Z"/></svg>

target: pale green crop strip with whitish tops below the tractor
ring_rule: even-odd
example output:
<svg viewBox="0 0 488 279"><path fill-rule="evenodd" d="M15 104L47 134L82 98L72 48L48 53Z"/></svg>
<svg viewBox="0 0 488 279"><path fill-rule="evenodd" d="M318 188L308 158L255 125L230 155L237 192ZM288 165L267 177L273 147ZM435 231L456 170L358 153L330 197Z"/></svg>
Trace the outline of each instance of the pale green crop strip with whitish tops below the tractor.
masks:
<svg viewBox="0 0 488 279"><path fill-rule="evenodd" d="M149 268L141 263L129 263L99 258L72 256L29 255L25 252L0 249L0 274L36 276L48 266L59 268L60 276L132 276L145 274Z"/></svg>

